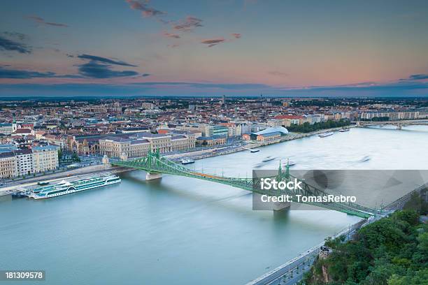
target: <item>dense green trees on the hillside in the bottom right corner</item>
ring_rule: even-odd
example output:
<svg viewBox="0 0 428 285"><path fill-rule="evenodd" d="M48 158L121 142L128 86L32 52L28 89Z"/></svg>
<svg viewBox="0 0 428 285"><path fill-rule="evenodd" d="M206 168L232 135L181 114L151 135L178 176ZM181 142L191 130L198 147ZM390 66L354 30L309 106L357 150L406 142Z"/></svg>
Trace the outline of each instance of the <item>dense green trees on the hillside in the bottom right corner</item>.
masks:
<svg viewBox="0 0 428 285"><path fill-rule="evenodd" d="M360 229L354 240L326 242L333 252L318 259L305 284L428 285L428 226L418 212L395 212Z"/></svg>

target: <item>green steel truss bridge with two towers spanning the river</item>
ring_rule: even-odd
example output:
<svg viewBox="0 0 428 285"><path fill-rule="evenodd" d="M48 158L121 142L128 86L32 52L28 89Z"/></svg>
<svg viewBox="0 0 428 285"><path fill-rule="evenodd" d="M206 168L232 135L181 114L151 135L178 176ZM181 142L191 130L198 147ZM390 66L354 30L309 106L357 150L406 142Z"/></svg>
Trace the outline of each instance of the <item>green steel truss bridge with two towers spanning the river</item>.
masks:
<svg viewBox="0 0 428 285"><path fill-rule="evenodd" d="M260 185L261 178L267 177L252 177L252 178L240 178L240 177L224 177L219 175L212 175L207 173L200 173L196 170L191 170L190 168L186 168L174 161L166 159L164 156L161 156L159 152L149 152L147 156L133 159L129 161L112 161L113 166L122 166L127 168L135 168L140 170L145 170L148 173L148 179L156 179L160 178L162 174L169 175L179 175L184 177L196 178L199 180L208 180L211 182L216 182L220 184L226 184L231 187L236 187L248 191L252 191L259 194L266 194L269 196L279 196L279 195L290 195L293 197L293 202L297 202L297 199L294 198L296 195L301 196L328 196L329 193L317 189L309 184L306 184L302 180L298 180L301 182L301 188L297 190L275 190L275 191L266 191L262 190ZM293 177L290 174L289 167L287 166L285 170L278 168L278 173L269 178L274 178L276 181L280 182L289 182L294 181L296 177ZM380 210L371 209L369 207L364 207L362 205L358 205L356 203L305 203L308 205L315 205L318 207L324 207L329 210L335 210L338 212L344 212L346 214L352 214L361 218L369 218L371 216L375 216L377 214L381 214Z"/></svg>

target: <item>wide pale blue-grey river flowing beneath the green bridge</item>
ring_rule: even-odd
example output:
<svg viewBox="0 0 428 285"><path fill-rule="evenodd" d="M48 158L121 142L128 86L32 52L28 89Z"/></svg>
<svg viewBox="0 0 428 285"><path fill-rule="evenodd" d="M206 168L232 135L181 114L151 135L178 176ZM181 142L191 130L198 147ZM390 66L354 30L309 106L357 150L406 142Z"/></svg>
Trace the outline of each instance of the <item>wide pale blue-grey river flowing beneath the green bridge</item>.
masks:
<svg viewBox="0 0 428 285"><path fill-rule="evenodd" d="M424 126L351 129L190 167L250 177L255 163L277 156L305 169L427 169L427 145ZM263 168L278 167L270 163ZM324 210L252 211L248 192L185 177L121 177L46 200L1 197L0 269L45 270L43 284L244 284L359 221Z"/></svg>

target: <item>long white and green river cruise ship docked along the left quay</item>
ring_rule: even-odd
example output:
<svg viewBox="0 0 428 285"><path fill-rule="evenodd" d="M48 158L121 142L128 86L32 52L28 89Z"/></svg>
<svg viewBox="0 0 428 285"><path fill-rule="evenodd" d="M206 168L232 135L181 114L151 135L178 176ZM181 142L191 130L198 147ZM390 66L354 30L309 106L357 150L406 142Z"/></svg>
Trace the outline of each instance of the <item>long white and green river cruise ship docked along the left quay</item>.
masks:
<svg viewBox="0 0 428 285"><path fill-rule="evenodd" d="M104 187L107 185L120 183L121 181L122 180L120 177L111 174L90 177L72 182L62 180L62 182L59 182L55 185L34 188L29 194L29 197L34 199L51 198L93 188Z"/></svg>

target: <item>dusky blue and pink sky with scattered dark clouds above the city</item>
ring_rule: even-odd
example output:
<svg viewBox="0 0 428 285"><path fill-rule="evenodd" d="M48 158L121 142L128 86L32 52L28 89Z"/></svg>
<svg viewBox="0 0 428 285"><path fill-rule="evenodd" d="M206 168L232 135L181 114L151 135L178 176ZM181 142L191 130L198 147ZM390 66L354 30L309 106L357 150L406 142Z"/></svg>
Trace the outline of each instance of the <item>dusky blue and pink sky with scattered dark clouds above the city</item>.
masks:
<svg viewBox="0 0 428 285"><path fill-rule="evenodd" d="M428 96L428 1L2 0L0 97Z"/></svg>

